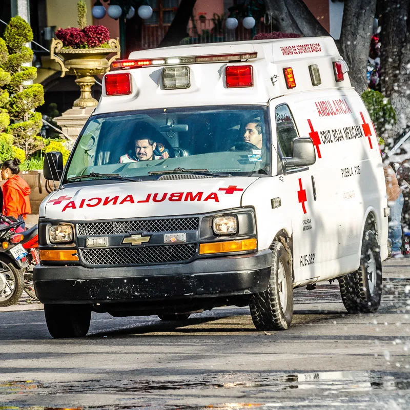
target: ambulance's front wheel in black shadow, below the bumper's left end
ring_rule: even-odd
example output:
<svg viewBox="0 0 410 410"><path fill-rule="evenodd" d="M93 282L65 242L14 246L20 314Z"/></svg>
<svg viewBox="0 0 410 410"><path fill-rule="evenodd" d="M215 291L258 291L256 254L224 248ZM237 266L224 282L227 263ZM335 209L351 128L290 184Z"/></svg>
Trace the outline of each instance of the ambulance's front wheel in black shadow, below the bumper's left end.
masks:
<svg viewBox="0 0 410 410"><path fill-rule="evenodd" d="M45 304L44 315L54 339L84 337L90 329L91 305Z"/></svg>

